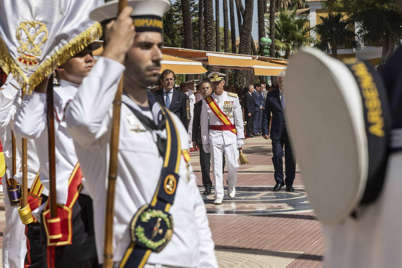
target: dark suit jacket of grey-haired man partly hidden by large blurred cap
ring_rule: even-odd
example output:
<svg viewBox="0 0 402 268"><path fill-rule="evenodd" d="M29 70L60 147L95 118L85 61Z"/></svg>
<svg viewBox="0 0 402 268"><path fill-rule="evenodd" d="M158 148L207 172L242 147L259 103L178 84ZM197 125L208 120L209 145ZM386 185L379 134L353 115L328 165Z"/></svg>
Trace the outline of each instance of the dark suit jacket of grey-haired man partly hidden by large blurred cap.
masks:
<svg viewBox="0 0 402 268"><path fill-rule="evenodd" d="M271 113L272 123L270 138L280 139L283 133L283 126L285 125L285 117L283 116L281 98L279 98L279 90L273 90L267 94L263 112L263 135L268 135Z"/></svg>

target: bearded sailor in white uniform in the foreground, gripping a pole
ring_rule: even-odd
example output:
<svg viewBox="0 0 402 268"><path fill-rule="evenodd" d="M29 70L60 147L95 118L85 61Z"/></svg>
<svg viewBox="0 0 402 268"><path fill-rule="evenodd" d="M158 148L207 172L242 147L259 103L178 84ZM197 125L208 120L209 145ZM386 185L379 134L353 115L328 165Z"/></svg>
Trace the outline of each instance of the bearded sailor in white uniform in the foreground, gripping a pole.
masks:
<svg viewBox="0 0 402 268"><path fill-rule="evenodd" d="M90 17L98 21L115 18L117 4L118 1L108 2L95 9ZM146 261L145 267L217 267L205 205L189 162L187 131L176 115L160 106L154 96L147 92L147 86L158 81L162 60L162 15L171 4L168 0L129 0L127 4L132 8L126 7L116 20L106 25L107 44L103 56L98 58L93 70L83 80L78 94L66 109L68 132L74 139L86 178L85 186L94 200L99 262L104 263L105 197L112 132L112 100L124 73L113 227L114 266L118 267L123 261L124 267L137 267L138 263L132 264L131 258L138 258L142 254ZM138 8L138 5L143 8ZM107 15L103 16L104 14ZM151 20L152 23L147 24L152 26L144 27L142 22ZM164 125L163 119L168 118L168 115L172 118L169 127ZM175 131L171 129L174 126L172 124L176 127ZM169 134L166 128L169 128ZM146 249L152 250L152 253L149 256L144 255L145 245L137 246L137 242L141 242L137 238L133 254L130 254L129 246L133 245L131 231L134 231L131 221L144 205L153 206L161 172L164 172L164 157L165 160L169 157L169 154L165 155L166 148L164 149L169 136L180 139L179 147L170 147L172 153L180 150L175 158L179 164L174 176L178 179L166 176L168 184L164 188L164 191L175 194L174 202L169 203L170 206L166 205L174 229L170 233L170 240L163 243L164 248L156 252L152 246L156 242L152 239L160 236L163 239L164 236L159 233L163 232L159 229L163 224L154 217L146 216L150 217L150 221L160 223L155 225L152 222L151 227L155 225L152 237L142 237L148 241ZM162 183L164 182L160 185L163 187L165 184ZM159 198L155 200L160 202ZM145 226L148 225L144 223ZM135 230L138 230L137 227ZM169 237L167 232L166 235Z"/></svg>

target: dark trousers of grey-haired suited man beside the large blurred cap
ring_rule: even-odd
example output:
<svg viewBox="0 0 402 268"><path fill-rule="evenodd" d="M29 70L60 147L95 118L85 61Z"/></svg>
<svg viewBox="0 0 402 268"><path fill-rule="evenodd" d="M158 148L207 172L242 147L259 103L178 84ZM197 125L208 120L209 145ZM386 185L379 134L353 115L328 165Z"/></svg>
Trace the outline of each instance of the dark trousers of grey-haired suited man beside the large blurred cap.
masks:
<svg viewBox="0 0 402 268"><path fill-rule="evenodd" d="M289 137L287 135L286 127L283 128L281 139L272 140L272 164L274 165L275 173L274 178L276 183L283 183L283 146L285 146L285 174L286 186L292 186L293 180L296 174L296 162L293 158L292 148L289 143Z"/></svg>

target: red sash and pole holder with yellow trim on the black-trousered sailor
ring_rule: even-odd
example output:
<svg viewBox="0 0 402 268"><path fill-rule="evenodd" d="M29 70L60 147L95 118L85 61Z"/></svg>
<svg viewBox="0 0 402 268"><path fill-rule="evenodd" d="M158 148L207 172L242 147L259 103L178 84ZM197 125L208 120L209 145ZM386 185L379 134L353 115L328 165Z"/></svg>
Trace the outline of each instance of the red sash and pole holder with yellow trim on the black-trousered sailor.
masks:
<svg viewBox="0 0 402 268"><path fill-rule="evenodd" d="M42 220L46 236L47 246L70 245L72 243L72 207L82 190L82 171L77 163L69 180L66 205L57 204L57 217L51 218L49 199L42 213Z"/></svg>

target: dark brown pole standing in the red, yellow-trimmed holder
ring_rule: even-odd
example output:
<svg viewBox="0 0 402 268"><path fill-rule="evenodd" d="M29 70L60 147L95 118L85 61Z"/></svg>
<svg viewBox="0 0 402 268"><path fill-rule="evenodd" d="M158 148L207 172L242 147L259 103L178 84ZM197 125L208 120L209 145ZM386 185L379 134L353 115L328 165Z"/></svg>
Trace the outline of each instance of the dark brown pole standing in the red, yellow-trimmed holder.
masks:
<svg viewBox="0 0 402 268"><path fill-rule="evenodd" d="M55 158L55 145L54 145L54 112L53 112L53 75L50 76L47 90L47 134L48 134L48 147L49 147L49 198L50 198L50 217L57 217L57 203L56 203L56 158Z"/></svg>

